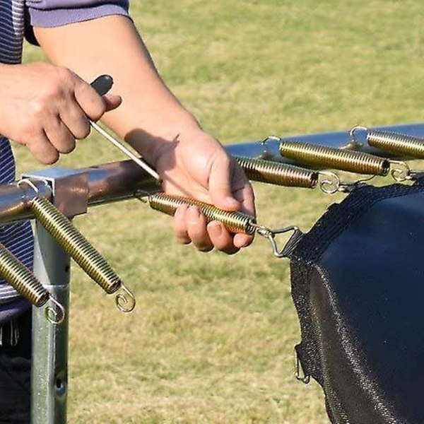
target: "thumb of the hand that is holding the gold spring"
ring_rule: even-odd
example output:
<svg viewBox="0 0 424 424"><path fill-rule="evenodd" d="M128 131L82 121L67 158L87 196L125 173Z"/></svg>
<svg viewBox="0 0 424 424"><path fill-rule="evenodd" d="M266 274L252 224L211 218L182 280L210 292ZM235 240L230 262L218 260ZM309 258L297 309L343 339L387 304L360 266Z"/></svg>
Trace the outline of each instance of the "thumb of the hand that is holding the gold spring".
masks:
<svg viewBox="0 0 424 424"><path fill-rule="evenodd" d="M230 158L224 155L213 162L209 175L209 195L213 204L226 211L237 211L241 207L240 202L232 196L233 166Z"/></svg>

